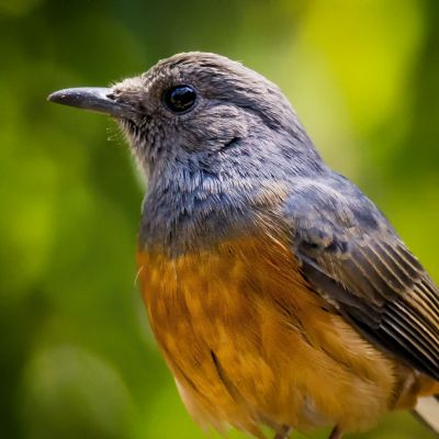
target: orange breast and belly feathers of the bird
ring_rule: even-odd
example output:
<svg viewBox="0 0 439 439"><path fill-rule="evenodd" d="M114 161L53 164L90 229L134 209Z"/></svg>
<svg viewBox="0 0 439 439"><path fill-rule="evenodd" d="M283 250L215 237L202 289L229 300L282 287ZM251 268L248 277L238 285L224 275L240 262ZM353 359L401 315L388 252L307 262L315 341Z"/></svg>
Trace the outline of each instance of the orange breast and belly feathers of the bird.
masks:
<svg viewBox="0 0 439 439"><path fill-rule="evenodd" d="M415 403L417 374L312 292L286 244L239 238L138 262L151 328L199 423L351 431Z"/></svg>

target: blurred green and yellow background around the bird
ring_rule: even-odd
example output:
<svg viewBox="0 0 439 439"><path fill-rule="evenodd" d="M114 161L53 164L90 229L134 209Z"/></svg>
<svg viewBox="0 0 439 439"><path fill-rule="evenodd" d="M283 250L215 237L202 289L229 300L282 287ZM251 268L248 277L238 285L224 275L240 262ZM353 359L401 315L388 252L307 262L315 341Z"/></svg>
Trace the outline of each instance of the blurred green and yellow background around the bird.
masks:
<svg viewBox="0 0 439 439"><path fill-rule="evenodd" d="M436 0L0 0L2 438L204 437L135 286L143 183L122 136L45 101L193 49L279 83L439 280ZM431 435L395 414L352 437Z"/></svg>

